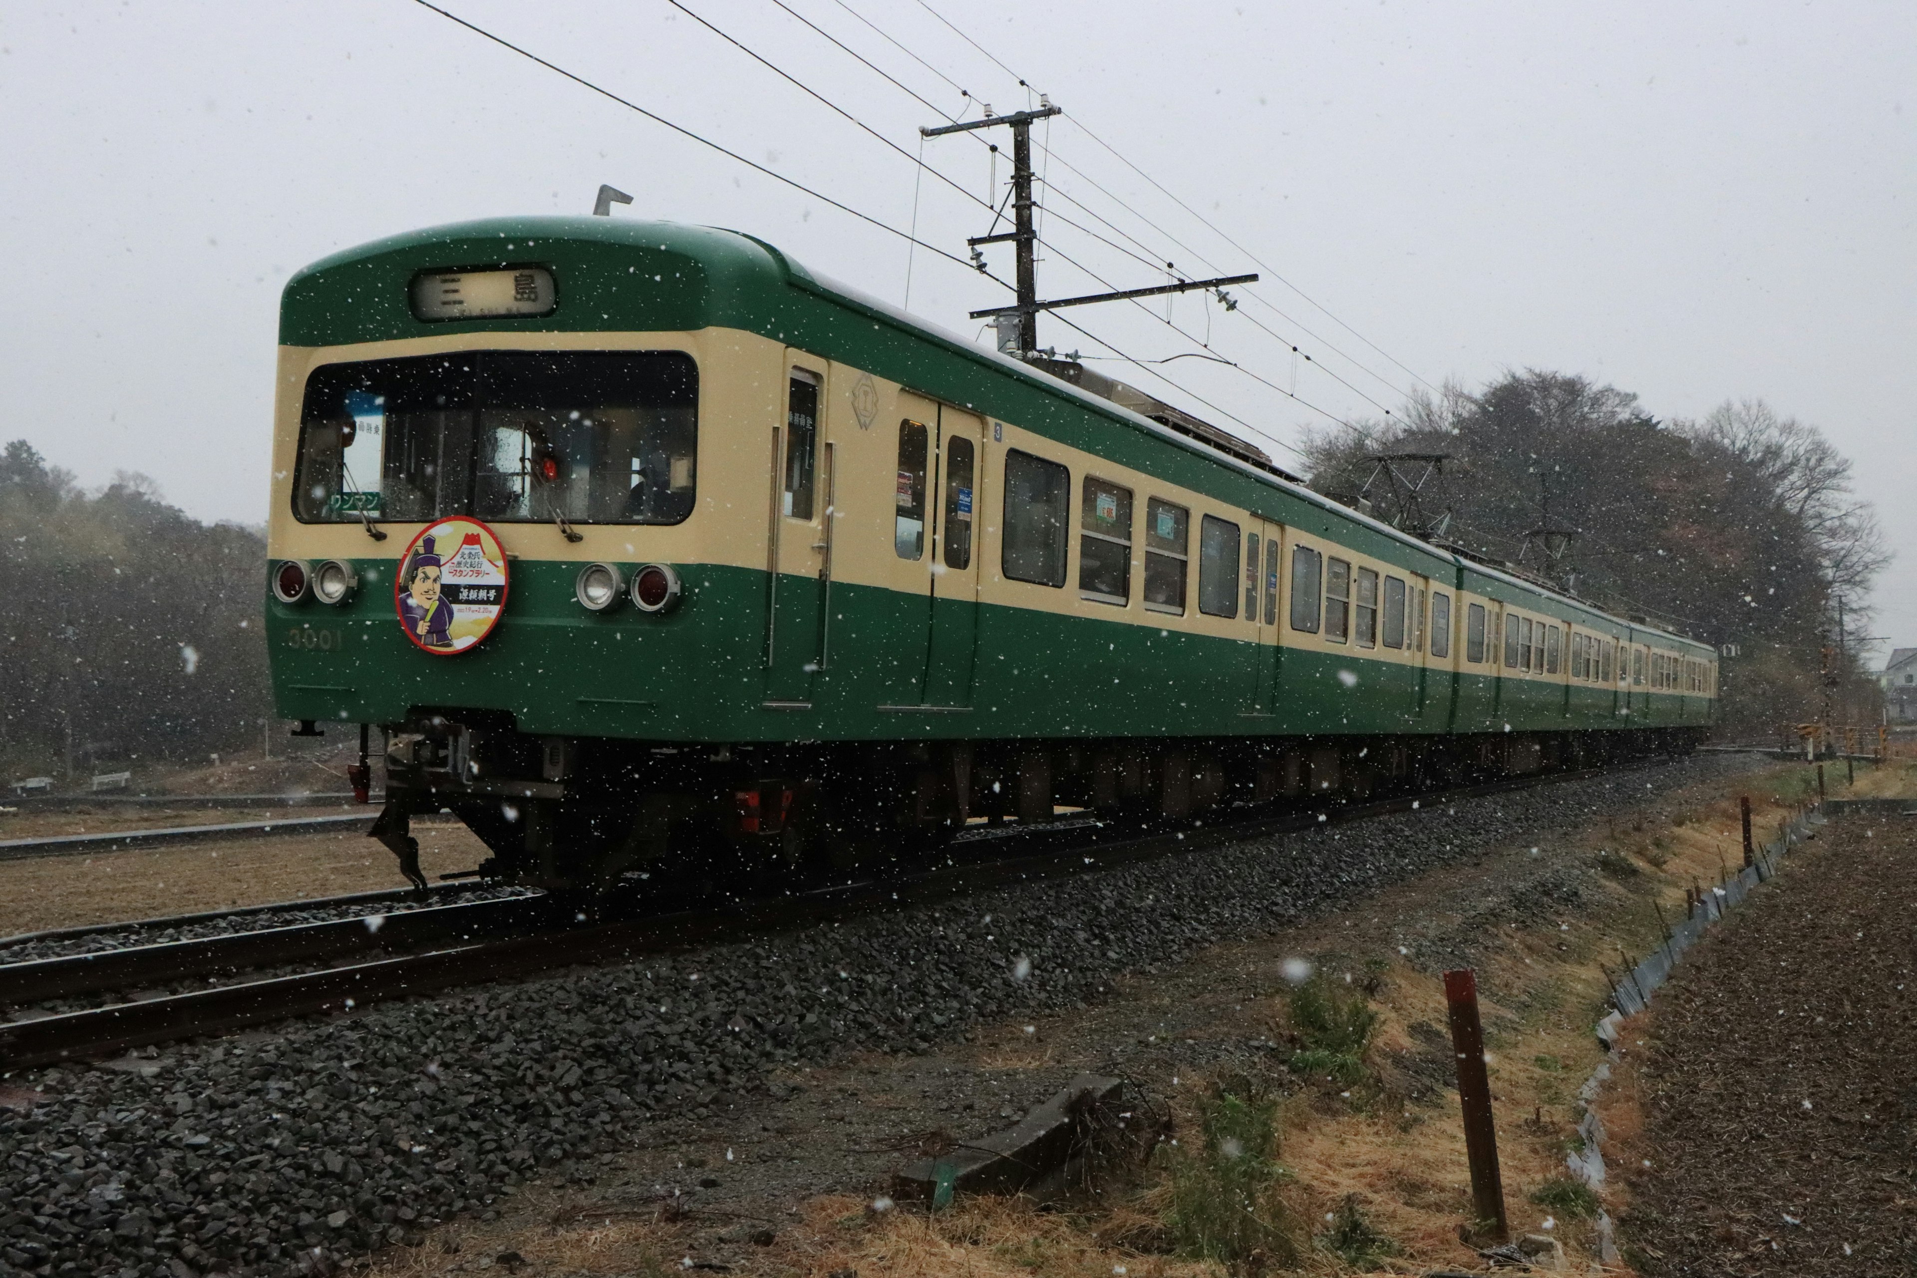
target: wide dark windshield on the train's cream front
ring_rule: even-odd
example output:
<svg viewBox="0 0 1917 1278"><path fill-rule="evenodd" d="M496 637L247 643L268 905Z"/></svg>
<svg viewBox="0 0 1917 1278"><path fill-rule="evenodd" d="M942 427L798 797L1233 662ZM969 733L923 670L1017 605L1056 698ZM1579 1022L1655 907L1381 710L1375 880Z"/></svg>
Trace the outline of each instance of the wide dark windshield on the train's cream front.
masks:
<svg viewBox="0 0 1917 1278"><path fill-rule="evenodd" d="M460 351L326 364L307 381L303 523L477 515L679 523L698 366L661 351Z"/></svg>

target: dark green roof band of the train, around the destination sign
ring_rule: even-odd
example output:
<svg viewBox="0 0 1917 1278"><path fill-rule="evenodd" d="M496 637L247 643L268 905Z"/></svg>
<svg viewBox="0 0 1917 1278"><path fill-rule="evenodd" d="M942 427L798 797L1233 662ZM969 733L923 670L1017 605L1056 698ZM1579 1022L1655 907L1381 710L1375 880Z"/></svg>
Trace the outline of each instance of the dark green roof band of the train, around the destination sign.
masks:
<svg viewBox="0 0 1917 1278"><path fill-rule="evenodd" d="M408 293L418 272L502 266L552 270L558 295L554 310L543 316L473 320L420 320L412 314ZM638 282L644 282L644 287L629 287ZM1503 586L1491 592L1495 596L1516 594L1532 605L1549 600L1568 613L1605 617L1620 630L1656 632L1674 644L1708 651L1708 646L1697 640L1624 621L1585 600L1440 550L1340 506L1302 483L1267 473L1212 445L987 351L861 289L817 276L776 247L742 232L608 217L452 222L324 257L288 280L280 299L280 345L288 347L335 347L462 331L702 328L736 328L794 341L817 354L866 368L935 399L991 416L1022 420L1024 410L1031 418L1022 420L1028 427L1058 433L1066 443L1087 450L1110 452L1120 441L1087 437L1085 410L1091 410L1108 423L1129 427L1133 437L1148 437L1185 454L1183 464L1171 466L1166 466L1169 458L1160 454L1160 469L1177 471L1167 473L1167 479L1213 491L1223 500L1263 510L1311 533L1338 535L1353 550L1384 559L1401 559L1411 552L1449 563L1474 577L1480 590L1493 582ZM987 395L997 402L982 402ZM1070 414L1074 422L1060 420L1054 412L1060 400L1079 410ZM1144 458L1123 460L1144 462ZM1221 485L1219 466L1236 479ZM1200 469L1210 471L1210 483ZM1273 496L1286 498L1279 502L1281 510L1271 510ZM1392 546L1396 554L1382 554L1384 546Z"/></svg>

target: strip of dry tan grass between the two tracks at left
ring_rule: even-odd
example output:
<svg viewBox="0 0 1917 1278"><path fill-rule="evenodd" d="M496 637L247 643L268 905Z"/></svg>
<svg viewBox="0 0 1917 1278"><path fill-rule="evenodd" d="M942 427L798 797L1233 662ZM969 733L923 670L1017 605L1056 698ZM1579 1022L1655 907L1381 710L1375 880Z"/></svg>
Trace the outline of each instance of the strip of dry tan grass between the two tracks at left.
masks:
<svg viewBox="0 0 1917 1278"><path fill-rule="evenodd" d="M464 826L414 833L427 876L485 858ZM0 935L406 885L393 855L358 832L33 856L0 862Z"/></svg>

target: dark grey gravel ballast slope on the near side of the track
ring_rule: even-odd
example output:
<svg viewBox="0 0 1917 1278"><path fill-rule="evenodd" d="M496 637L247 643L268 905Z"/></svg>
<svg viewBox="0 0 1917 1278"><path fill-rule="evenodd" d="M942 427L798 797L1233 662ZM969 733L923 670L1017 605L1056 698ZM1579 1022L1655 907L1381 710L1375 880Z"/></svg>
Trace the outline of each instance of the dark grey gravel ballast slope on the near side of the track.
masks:
<svg viewBox="0 0 1917 1278"><path fill-rule="evenodd" d="M326 1268L767 1071L922 1052L1120 971L1748 766L1702 757L0 1081L0 1278ZM36 1102L36 1096L44 1100Z"/></svg>

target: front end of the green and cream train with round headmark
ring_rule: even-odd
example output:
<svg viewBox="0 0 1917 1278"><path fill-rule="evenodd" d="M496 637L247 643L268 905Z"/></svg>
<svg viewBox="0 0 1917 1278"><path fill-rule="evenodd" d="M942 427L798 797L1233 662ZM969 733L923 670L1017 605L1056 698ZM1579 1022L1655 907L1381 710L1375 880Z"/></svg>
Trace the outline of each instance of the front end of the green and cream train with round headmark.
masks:
<svg viewBox="0 0 1917 1278"><path fill-rule="evenodd" d="M571 889L771 824L753 763L698 745L765 736L744 477L784 425L759 335L784 289L744 236L610 218L401 236L288 284L274 696L383 730L374 833L416 881L408 822L441 807L489 876Z"/></svg>

